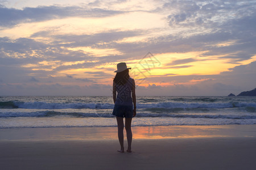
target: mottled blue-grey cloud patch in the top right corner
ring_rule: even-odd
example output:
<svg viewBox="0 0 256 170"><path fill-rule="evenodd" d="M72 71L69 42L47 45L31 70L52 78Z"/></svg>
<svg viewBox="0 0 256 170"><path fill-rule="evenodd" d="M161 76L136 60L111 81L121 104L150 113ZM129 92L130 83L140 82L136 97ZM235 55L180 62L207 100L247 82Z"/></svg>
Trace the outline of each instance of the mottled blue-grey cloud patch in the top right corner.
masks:
<svg viewBox="0 0 256 170"><path fill-rule="evenodd" d="M169 24L193 25L214 29L229 19L241 18L255 10L255 2L244 1L170 1L165 3L163 9L169 9ZM233 15L230 15L233 14Z"/></svg>

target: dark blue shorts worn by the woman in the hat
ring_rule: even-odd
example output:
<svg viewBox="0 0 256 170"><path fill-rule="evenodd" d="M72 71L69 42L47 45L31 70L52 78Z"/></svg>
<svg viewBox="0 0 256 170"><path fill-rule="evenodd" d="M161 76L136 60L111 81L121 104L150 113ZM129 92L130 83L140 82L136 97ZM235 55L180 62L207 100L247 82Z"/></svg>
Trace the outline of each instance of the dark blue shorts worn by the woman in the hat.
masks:
<svg viewBox="0 0 256 170"><path fill-rule="evenodd" d="M132 118L133 106L132 105L115 105L112 114L117 117Z"/></svg>

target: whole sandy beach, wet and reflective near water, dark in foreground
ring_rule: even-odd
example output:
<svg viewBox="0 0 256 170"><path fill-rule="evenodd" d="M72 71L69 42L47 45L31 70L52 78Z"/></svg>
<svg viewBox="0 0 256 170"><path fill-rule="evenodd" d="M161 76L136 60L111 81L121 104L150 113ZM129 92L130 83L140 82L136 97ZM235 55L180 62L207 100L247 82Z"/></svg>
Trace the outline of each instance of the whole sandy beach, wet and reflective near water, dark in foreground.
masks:
<svg viewBox="0 0 256 170"><path fill-rule="evenodd" d="M133 127L132 153L117 152L116 130L116 127L0 129L0 168L256 167L256 125Z"/></svg>

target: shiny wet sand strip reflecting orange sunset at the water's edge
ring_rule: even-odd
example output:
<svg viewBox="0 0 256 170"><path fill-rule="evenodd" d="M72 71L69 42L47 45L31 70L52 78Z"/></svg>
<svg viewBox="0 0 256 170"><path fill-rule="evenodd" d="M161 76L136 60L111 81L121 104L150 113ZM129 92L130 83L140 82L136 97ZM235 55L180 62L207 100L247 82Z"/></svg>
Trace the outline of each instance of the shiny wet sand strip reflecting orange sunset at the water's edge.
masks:
<svg viewBox="0 0 256 170"><path fill-rule="evenodd" d="M132 126L133 139L254 137L256 125ZM124 130L125 134L125 130ZM65 128L3 128L0 141L113 140L117 126Z"/></svg>

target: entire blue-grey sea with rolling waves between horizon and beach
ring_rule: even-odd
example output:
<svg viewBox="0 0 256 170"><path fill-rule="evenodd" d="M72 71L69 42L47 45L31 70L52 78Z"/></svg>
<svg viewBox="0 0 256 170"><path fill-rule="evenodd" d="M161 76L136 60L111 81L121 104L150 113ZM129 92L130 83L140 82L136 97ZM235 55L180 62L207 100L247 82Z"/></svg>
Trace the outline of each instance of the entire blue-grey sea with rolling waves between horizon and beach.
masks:
<svg viewBox="0 0 256 170"><path fill-rule="evenodd" d="M0 128L117 126L112 96L0 96ZM137 96L132 126L253 125L255 96Z"/></svg>

